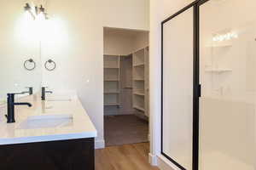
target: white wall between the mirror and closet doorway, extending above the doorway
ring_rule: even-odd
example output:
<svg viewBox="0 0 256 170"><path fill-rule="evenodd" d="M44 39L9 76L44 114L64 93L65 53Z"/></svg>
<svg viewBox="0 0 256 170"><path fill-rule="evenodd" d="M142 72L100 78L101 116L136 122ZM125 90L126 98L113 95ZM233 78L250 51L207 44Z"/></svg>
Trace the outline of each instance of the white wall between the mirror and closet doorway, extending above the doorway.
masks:
<svg viewBox="0 0 256 170"><path fill-rule="evenodd" d="M148 30L148 0L51 0L48 12L58 26L42 42L43 60L54 59L44 83L76 89L103 142L103 27ZM49 29L52 31L52 29ZM61 33L60 33L61 32ZM84 125L86 126L86 125Z"/></svg>

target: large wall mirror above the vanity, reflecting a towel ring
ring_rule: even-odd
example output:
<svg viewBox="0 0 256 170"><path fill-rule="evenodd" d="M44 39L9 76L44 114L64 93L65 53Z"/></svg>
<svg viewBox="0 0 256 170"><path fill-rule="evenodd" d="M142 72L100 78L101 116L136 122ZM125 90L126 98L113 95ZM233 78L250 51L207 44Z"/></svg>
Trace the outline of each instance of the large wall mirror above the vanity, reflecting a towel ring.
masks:
<svg viewBox="0 0 256 170"><path fill-rule="evenodd" d="M0 105L8 93L26 91L33 87L36 93L41 84L40 43L30 14L24 10L24 2L6 1L0 6ZM24 62L33 59L37 67L24 68ZM0 111L1 112L1 111Z"/></svg>

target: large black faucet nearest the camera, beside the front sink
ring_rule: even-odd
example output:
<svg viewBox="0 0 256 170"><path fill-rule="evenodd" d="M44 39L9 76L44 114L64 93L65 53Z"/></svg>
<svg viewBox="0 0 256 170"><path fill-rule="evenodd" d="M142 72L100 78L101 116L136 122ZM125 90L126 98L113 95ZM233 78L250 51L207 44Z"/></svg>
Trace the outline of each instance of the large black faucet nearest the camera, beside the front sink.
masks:
<svg viewBox="0 0 256 170"><path fill-rule="evenodd" d="M20 93L22 94L22 93ZM28 105L31 107L30 103L15 103L15 94L7 94L7 122L15 122L15 105Z"/></svg>

